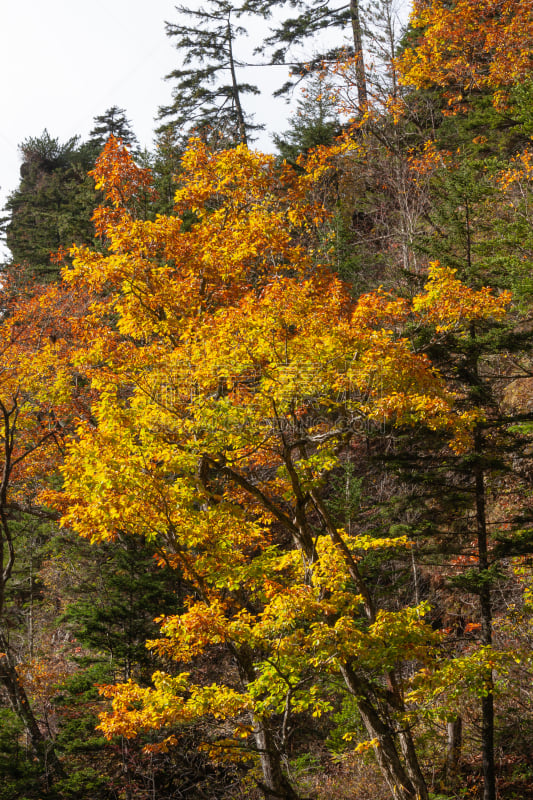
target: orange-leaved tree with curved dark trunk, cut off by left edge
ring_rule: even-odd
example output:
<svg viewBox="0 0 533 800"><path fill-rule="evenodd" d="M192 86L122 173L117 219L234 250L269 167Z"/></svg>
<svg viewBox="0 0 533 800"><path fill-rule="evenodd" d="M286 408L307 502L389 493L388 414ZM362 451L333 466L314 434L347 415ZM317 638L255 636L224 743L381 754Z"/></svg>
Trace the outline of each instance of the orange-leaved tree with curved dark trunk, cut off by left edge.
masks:
<svg viewBox="0 0 533 800"><path fill-rule="evenodd" d="M71 374L66 364L59 366L59 354L66 349L62 334L68 327L56 316L61 305L58 291L52 288L13 307L2 321L0 681L46 782L61 775L62 767L30 705L6 623L9 585L15 561L21 558L16 549L17 522L21 512L31 511L35 504L35 476L50 474L57 466L62 428L71 413Z"/></svg>

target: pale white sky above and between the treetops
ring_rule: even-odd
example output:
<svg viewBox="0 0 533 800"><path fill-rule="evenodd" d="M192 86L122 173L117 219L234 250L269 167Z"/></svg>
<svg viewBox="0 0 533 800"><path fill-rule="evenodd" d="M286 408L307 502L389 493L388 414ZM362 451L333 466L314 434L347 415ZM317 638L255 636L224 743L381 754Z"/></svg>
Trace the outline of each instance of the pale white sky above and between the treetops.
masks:
<svg viewBox="0 0 533 800"><path fill-rule="evenodd" d="M61 142L84 139L94 117L116 105L152 148L157 110L171 100L164 76L179 66L164 23L177 19L175 0L0 0L0 208L19 182L18 145L45 128ZM251 49L266 25L252 30ZM263 90L251 110L270 133L287 127L290 108L271 99L285 79L280 68L246 75ZM272 150L270 133L256 146Z"/></svg>

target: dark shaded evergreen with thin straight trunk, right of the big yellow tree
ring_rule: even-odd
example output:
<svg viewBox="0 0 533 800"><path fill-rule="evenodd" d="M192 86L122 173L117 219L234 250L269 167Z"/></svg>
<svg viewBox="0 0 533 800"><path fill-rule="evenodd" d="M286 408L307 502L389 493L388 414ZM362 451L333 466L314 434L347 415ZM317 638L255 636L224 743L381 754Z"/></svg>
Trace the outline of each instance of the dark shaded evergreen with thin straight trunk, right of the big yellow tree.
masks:
<svg viewBox="0 0 533 800"><path fill-rule="evenodd" d="M490 655L484 660L483 653L498 654L506 647L498 627L503 616L501 598L512 576L509 558L530 556L533 547L531 531L524 528L531 515L531 476L525 469L531 426L525 425L524 419L531 414L524 413L523 403L513 408L502 398L511 395L515 377L509 374L506 350L512 352L517 365L529 363L531 334L517 334L497 323L473 323L467 332L448 331L428 346L428 333L419 331L419 346L454 387L461 408L479 414L473 446L466 454L445 453L437 437L426 433L424 443L419 432L403 441L399 437L396 453L389 454L388 460L411 486L404 509L410 525L401 529L409 530L416 542L417 559L425 564L421 574L432 575L440 584L429 598L435 625L446 628L447 647L455 649L456 679L462 682L464 693L479 698L483 797L493 800L498 730L495 700L502 689L502 676ZM461 669L469 657L476 658L476 652L475 677L465 680ZM446 691L449 687L443 696ZM454 720L457 698L448 711L449 719ZM452 772L454 768L456 765Z"/></svg>

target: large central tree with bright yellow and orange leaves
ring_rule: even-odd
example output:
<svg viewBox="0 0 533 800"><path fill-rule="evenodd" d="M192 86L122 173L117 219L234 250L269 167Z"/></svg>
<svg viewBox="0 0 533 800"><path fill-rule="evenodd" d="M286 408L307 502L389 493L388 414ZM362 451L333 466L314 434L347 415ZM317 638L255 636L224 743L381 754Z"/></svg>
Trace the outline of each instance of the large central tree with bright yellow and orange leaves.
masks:
<svg viewBox="0 0 533 800"><path fill-rule="evenodd" d="M210 752L252 737L265 792L292 798L284 731L330 708L329 676L356 699L391 793L426 797L401 665L431 661L436 640L424 608L391 609L362 561L409 543L339 528L326 487L378 421L470 446L475 414L454 411L402 327L434 304L451 324L499 318L507 298L437 270L412 307L384 292L354 304L310 253L324 211L307 193L325 168L317 155L302 175L278 173L246 148L197 142L177 216L143 222L129 209L148 176L109 143L96 176L114 204L97 215L111 250L78 249L66 273L107 287L84 356L107 366L93 373L96 425L69 447L59 502L82 535L142 535L183 575L187 610L163 620L156 652L192 670L210 653L227 660L216 684L160 672L152 688L110 687L109 735L232 720Z"/></svg>

